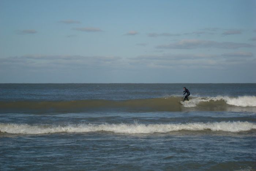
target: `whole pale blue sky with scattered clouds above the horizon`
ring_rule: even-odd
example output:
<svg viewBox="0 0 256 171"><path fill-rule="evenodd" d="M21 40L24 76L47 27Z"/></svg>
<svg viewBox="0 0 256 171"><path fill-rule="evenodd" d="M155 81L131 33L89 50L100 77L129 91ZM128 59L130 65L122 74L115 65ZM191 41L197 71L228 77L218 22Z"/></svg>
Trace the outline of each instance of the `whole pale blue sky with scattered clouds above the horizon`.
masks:
<svg viewBox="0 0 256 171"><path fill-rule="evenodd" d="M255 0L0 0L0 83L256 83Z"/></svg>

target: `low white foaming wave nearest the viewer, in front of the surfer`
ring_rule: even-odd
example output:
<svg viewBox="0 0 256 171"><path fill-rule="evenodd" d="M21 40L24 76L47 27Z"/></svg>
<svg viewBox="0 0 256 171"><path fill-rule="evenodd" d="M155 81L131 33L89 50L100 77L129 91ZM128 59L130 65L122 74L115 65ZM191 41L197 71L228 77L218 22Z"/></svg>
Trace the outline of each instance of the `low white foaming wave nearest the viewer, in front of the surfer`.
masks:
<svg viewBox="0 0 256 171"><path fill-rule="evenodd" d="M241 132L256 129L251 122L208 122L208 123L169 123L169 124L79 124L79 125L27 125L16 123L0 123L0 132L10 134L52 134L52 133L89 133L113 132L123 134L152 134L168 133L172 131L225 131Z"/></svg>

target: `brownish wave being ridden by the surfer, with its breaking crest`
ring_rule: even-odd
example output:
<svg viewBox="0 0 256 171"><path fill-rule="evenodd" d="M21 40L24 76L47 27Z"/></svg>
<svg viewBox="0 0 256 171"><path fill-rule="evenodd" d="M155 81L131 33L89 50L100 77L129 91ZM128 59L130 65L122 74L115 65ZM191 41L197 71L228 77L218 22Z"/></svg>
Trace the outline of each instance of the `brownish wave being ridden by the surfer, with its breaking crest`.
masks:
<svg viewBox="0 0 256 171"><path fill-rule="evenodd" d="M106 109L122 111L184 111L188 110L187 108L204 111L225 111L233 110L234 107L256 107L256 96L190 97L189 99L189 101L180 102L182 100L181 96L169 96L165 98L130 100L0 102L0 113L76 113Z"/></svg>

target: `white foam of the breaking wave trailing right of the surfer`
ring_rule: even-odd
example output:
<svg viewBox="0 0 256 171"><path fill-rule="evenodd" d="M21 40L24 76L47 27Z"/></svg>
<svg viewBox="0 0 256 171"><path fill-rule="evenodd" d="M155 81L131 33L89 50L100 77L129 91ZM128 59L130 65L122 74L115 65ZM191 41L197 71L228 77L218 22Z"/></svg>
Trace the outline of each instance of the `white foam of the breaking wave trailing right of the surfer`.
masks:
<svg viewBox="0 0 256 171"><path fill-rule="evenodd" d="M240 107L256 107L256 96L217 96L217 97L196 97L189 101L181 102L184 107L196 107L201 102L224 100L227 104Z"/></svg>

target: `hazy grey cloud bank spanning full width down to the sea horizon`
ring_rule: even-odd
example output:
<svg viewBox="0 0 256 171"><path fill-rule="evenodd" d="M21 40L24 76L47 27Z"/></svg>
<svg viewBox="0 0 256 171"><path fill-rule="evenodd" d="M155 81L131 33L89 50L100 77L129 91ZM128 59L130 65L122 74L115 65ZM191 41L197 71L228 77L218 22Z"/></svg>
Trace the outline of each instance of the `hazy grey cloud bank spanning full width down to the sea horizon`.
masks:
<svg viewBox="0 0 256 171"><path fill-rule="evenodd" d="M150 82L188 75L212 77L208 73L249 71L252 57L225 57L212 54L162 54L134 58L116 56L26 55L0 58L2 82ZM237 69L239 68L239 70ZM217 70L222 69L222 71ZM195 73L195 71L198 71ZM254 70L252 70L254 71ZM251 72L251 75L253 72ZM163 75L164 74L164 75ZM154 76L153 76L154 75ZM218 78L218 74L215 76ZM240 76L240 75L239 75ZM224 77L224 76L223 76ZM229 77L229 76L227 76ZM240 76L243 77L243 76ZM254 77L255 78L255 77ZM121 79L121 80L120 80ZM192 78L191 81L193 81ZM212 78L211 78L212 79ZM211 81L211 79L209 79ZM200 80L199 80L200 81ZM218 80L216 80L218 81Z"/></svg>

